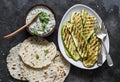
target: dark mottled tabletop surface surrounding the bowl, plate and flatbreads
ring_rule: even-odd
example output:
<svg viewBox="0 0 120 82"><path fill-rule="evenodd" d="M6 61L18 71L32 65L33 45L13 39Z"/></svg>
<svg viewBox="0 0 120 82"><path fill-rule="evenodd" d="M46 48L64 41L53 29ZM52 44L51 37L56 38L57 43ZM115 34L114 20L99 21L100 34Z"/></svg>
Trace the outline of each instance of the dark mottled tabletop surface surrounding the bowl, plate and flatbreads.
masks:
<svg viewBox="0 0 120 82"><path fill-rule="evenodd" d="M9 40L3 36L24 25L24 15L30 6L46 4L56 12L58 25L55 32L47 37L57 43L58 26L64 13L74 4L85 4L95 10L109 31L110 54L114 62L108 67L105 62L95 70L83 70L71 66L65 82L119 82L120 81L120 0L0 0L0 82L22 82L13 79L6 67L9 49L26 39L29 33L24 30Z"/></svg>

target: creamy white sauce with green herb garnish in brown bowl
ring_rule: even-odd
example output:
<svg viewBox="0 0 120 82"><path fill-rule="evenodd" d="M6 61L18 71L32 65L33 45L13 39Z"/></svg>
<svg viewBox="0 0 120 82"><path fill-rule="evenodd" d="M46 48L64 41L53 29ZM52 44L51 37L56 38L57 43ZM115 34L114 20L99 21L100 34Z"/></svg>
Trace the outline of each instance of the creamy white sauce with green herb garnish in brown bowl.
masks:
<svg viewBox="0 0 120 82"><path fill-rule="evenodd" d="M39 12L40 15L29 25L28 30L35 35L45 35L55 27L56 23L54 14L47 7L36 6L32 8L26 16L26 23L30 22L32 17Z"/></svg>

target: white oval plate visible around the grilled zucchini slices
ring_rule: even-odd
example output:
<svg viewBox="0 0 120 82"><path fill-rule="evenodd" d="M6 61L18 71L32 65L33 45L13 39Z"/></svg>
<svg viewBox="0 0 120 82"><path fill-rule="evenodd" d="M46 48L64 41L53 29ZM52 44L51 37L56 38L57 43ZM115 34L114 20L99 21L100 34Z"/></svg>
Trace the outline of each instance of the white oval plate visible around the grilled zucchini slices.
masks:
<svg viewBox="0 0 120 82"><path fill-rule="evenodd" d="M98 14L93 9L91 9L90 7L88 7L86 5L76 4L76 5L72 6L71 8L69 8L67 10L67 12L64 14L64 16L63 16L63 18L61 20L61 23L59 25L59 30L58 30L58 45L59 45L60 51L63 54L63 56L65 57L65 59L67 61L69 61L72 65L74 65L74 66L76 66L78 68L82 68L82 69L95 69L95 68L99 67L99 66L97 66L97 64L95 64L91 68L87 68L87 67L84 67L84 65L82 64L81 61L74 61L72 58L69 58L65 53L65 48L64 48L64 45L63 45L63 41L62 41L62 36L61 36L62 25L64 25L67 21L70 20L70 16L71 16L72 12L80 12L82 9L87 10L90 15L96 17L99 25L102 23L101 18L98 16ZM107 37L105 38L104 43L105 43L107 52L109 52L109 36L108 36L108 34L107 34ZM104 63L105 60L106 60L106 55L104 53L104 48L103 47L102 47L101 52L102 52L101 54L103 55L103 63Z"/></svg>

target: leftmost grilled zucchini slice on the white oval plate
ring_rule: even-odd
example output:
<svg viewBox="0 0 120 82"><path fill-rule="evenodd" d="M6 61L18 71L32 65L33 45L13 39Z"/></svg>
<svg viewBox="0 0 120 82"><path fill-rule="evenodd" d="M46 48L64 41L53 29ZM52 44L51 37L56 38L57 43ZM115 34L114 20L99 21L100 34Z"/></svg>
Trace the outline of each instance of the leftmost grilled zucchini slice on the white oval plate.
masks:
<svg viewBox="0 0 120 82"><path fill-rule="evenodd" d="M69 23L67 23L62 28L62 40L63 40L64 46L66 48L66 51L69 53L69 55L75 61L77 61L80 59L80 56L79 56L78 52L76 51L76 46L75 46L74 40L73 40L72 35L70 34L70 31L69 31L69 28L71 28L72 25L68 25L68 24Z"/></svg>

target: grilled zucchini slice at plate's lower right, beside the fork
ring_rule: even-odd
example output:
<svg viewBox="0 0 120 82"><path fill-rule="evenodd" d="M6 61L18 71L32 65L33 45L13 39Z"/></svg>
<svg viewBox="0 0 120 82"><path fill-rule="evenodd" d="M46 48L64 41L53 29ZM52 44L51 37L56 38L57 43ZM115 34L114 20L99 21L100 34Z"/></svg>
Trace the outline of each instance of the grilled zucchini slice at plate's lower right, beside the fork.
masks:
<svg viewBox="0 0 120 82"><path fill-rule="evenodd" d="M101 50L100 40L95 33L91 36L87 48L88 58L83 61L83 64L86 67L92 67L96 63Z"/></svg>

